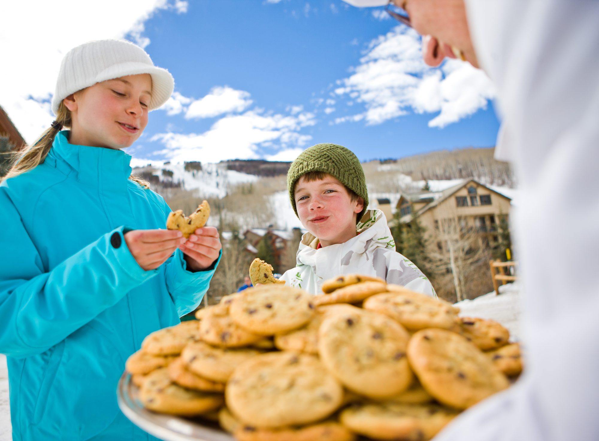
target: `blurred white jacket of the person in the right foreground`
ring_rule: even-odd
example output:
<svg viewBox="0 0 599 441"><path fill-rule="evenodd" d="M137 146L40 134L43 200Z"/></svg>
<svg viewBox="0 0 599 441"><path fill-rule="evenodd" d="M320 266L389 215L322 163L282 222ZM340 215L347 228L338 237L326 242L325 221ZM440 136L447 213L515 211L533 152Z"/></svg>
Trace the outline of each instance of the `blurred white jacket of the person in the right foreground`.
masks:
<svg viewBox="0 0 599 441"><path fill-rule="evenodd" d="M525 374L435 441L599 440L599 2L466 4L521 185Z"/></svg>

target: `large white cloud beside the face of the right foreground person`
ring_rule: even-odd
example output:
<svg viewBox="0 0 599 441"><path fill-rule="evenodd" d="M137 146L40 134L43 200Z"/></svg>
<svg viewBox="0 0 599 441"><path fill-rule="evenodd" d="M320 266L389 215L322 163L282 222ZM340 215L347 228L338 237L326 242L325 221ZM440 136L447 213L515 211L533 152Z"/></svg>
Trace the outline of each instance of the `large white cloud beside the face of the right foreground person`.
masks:
<svg viewBox="0 0 599 441"><path fill-rule="evenodd" d="M365 112L337 118L337 124L362 118L380 124L412 110L440 112L428 125L444 127L485 108L495 96L491 80L469 63L446 60L441 68L426 66L418 34L405 26L371 41L360 62L334 92L362 102Z"/></svg>

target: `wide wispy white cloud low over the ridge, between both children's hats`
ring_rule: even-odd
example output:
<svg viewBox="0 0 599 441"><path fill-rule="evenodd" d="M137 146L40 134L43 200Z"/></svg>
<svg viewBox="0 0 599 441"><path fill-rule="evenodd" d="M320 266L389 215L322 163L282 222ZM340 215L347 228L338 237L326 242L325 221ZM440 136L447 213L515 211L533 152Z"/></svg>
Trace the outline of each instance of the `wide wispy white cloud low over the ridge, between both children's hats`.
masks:
<svg viewBox="0 0 599 441"><path fill-rule="evenodd" d="M220 118L204 133L159 133L152 141L161 141L166 148L159 153L173 162L256 159L265 156L259 150L261 146L285 151L307 144L311 136L299 130L314 124L310 112L283 115L251 110Z"/></svg>

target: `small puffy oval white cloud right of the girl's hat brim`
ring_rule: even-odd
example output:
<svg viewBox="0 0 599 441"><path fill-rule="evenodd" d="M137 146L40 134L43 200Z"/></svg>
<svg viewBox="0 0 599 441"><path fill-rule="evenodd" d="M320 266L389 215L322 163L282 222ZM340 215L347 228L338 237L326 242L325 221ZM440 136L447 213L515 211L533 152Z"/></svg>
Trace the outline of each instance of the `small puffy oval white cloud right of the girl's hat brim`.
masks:
<svg viewBox="0 0 599 441"><path fill-rule="evenodd" d="M242 112L252 104L250 93L235 90L229 86L216 86L208 95L193 101L187 108L185 117L211 118L230 112Z"/></svg>

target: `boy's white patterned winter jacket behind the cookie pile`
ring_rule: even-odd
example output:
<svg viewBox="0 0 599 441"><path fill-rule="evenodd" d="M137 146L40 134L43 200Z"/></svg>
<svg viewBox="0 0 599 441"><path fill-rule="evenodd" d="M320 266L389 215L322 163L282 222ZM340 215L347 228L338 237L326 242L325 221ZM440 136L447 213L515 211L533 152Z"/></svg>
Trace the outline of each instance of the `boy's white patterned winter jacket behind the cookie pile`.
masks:
<svg viewBox="0 0 599 441"><path fill-rule="evenodd" d="M319 241L310 233L302 236L297 266L280 278L288 286L311 294L322 293L322 282L342 274L377 276L388 283L436 297L426 276L409 259L395 251L395 242L380 210L368 210L356 226L358 235L343 244L317 248Z"/></svg>

